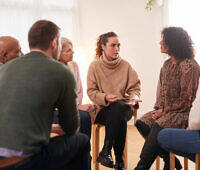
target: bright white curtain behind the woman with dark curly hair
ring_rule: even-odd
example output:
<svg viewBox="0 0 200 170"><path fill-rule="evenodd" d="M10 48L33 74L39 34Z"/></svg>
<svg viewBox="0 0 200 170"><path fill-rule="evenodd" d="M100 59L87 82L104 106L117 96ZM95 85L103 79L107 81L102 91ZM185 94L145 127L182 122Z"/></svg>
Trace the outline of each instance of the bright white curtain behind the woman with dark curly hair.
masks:
<svg viewBox="0 0 200 170"><path fill-rule="evenodd" d="M191 36L195 47L195 59L200 63L200 1L168 0L168 25L183 27Z"/></svg>

